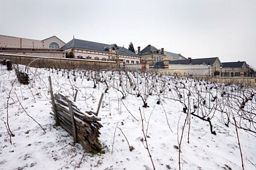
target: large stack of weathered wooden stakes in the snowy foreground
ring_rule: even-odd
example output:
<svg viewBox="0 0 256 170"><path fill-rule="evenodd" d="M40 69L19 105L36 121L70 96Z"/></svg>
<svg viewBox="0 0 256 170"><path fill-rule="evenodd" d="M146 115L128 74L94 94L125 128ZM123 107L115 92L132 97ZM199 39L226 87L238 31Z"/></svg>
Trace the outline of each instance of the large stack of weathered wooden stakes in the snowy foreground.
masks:
<svg viewBox="0 0 256 170"><path fill-rule="evenodd" d="M50 92L51 77L49 76ZM63 94L54 94L51 100L52 110L50 114L55 117L56 125L62 126L66 131L74 137L75 143L80 143L85 152L93 153L102 150L98 137L100 135L99 129L103 127L95 112L82 112L76 104L69 100Z"/></svg>

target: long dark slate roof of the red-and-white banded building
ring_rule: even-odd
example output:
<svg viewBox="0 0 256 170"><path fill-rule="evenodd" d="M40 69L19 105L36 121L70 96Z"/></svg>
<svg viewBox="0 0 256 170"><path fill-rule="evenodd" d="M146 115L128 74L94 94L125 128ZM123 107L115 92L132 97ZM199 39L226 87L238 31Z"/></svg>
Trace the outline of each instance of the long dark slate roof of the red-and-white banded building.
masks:
<svg viewBox="0 0 256 170"><path fill-rule="evenodd" d="M103 43L96 43L96 42L90 42L85 41L82 39L72 39L70 42L68 42L66 45L62 46L61 49L69 49L69 48L80 48L85 50L94 50L94 51L102 51L107 52L106 48L109 48L112 45L116 44L103 44ZM119 47L119 54L126 54L126 55L138 55L125 47Z"/></svg>

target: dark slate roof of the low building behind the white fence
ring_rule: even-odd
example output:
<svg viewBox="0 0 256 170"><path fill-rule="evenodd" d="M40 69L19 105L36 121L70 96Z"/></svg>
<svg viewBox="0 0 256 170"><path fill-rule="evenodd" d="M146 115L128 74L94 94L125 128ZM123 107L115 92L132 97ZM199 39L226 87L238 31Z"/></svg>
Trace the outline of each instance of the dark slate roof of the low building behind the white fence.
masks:
<svg viewBox="0 0 256 170"><path fill-rule="evenodd" d="M191 65L213 65L213 63L219 60L218 57L214 58L204 58L204 59L191 59L190 61L188 60L174 60L174 61L169 61L169 64L191 64Z"/></svg>

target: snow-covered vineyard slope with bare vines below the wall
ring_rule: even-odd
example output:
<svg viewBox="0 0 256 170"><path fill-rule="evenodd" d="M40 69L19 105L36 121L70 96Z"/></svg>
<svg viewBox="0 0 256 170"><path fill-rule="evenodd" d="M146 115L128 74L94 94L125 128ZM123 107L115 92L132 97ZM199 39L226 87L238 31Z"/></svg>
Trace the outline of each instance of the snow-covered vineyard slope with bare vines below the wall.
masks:
<svg viewBox="0 0 256 170"><path fill-rule="evenodd" d="M1 67L0 169L256 169L255 89L154 72ZM25 71L25 66L19 66ZM55 126L54 93L97 111L103 150Z"/></svg>

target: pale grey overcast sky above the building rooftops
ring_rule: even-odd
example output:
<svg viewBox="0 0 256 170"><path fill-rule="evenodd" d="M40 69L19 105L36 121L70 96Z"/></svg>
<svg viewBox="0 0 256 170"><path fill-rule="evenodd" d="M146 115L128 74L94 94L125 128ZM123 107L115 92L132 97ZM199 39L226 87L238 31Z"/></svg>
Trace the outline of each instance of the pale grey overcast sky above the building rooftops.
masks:
<svg viewBox="0 0 256 170"><path fill-rule="evenodd" d="M148 44L186 58L218 56L256 69L256 1L0 0L0 34L135 50Z"/></svg>

